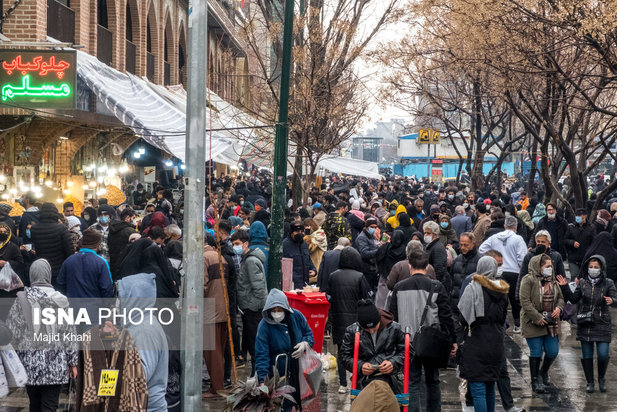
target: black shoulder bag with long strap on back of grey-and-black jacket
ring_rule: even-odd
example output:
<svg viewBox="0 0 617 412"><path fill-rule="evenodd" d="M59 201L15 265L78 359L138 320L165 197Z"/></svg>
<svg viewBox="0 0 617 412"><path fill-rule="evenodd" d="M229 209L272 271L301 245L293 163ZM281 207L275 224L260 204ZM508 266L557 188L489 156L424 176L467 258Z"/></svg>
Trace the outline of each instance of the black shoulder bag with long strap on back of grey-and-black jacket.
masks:
<svg viewBox="0 0 617 412"><path fill-rule="evenodd" d="M426 366L433 368L445 368L448 366L452 342L450 336L441 330L439 324L425 325L428 308L435 292L435 282L431 281L431 290L424 305L420 328L413 337L412 347L418 358Z"/></svg>

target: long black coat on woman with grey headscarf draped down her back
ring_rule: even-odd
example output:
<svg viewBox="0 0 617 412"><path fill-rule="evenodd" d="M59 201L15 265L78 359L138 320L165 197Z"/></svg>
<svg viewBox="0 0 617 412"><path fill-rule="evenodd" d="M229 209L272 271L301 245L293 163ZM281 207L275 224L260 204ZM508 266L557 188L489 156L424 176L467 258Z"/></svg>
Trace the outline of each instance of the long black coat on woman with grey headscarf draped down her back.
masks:
<svg viewBox="0 0 617 412"><path fill-rule="evenodd" d="M500 288L484 276L476 275L474 279L483 282L484 316L476 318L468 326L471 334L464 333L460 342L460 374L461 378L470 382L496 382L504 356L503 335L508 313L508 287L502 281L500 283L505 285ZM466 288L463 293L471 293L471 288ZM465 323L462 316L461 321Z"/></svg>

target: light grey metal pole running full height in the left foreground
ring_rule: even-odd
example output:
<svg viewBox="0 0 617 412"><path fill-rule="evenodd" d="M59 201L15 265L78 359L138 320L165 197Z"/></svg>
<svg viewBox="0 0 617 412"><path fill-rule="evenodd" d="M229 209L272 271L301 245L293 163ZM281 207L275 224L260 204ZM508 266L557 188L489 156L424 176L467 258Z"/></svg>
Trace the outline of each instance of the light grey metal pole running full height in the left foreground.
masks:
<svg viewBox="0 0 617 412"><path fill-rule="evenodd" d="M201 412L204 302L204 197L206 175L206 43L208 1L189 2L188 97L182 285L182 410Z"/></svg>

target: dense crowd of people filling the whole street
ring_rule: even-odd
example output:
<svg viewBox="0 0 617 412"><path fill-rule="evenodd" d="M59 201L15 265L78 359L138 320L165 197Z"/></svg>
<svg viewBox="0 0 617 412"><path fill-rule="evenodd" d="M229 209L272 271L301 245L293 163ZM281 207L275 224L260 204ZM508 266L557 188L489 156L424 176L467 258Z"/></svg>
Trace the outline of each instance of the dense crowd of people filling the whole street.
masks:
<svg viewBox="0 0 617 412"><path fill-rule="evenodd" d="M543 393L554 386L549 372L559 353L560 322L566 320L576 325L582 343L586 390L595 390L595 370L599 390L607 390L608 308L617 305L617 202L591 221L589 208L545 204L542 191L528 194L520 189L523 183L472 192L465 184L415 178L332 177L313 188L303 206L294 209L290 201L283 257L292 262L294 288L316 285L330 302L339 393L349 392L360 332L357 389L378 380L401 394L405 333L413 340L429 325L449 340L450 365L466 384L468 407L494 410L497 386L504 409L521 411L511 394L505 333L511 328L526 339L532 389ZM231 387L233 343L236 365L250 368L259 382L274 368L289 369L300 403L298 358L315 338L285 294L267 287L271 190L265 175L213 179L208 187L204 297L214 306L204 319L204 340L211 342L204 350L205 398ZM9 263L22 278L30 305L84 305L94 311L102 299L120 295L179 297L182 197L156 185L152 191L141 184L127 191L127 202L118 207L91 199L81 216L71 203L62 212L51 203L37 204L32 193L20 199L21 218L9 217L11 206L0 204L0 267ZM0 310L14 341L24 339L15 331L27 329L28 322L17 292L0 291L9 298ZM118 329L122 325L102 327L106 333ZM169 339L178 331L133 332L160 341L160 356L143 353L148 410L179 410L181 366ZM55 410L62 384L83 375L72 347L53 359L18 354L32 373L28 395L41 405L38 410ZM277 364L281 354L288 368ZM410 410L420 410L422 391L427 410L441 409L439 369L413 358ZM285 409L291 407L287 401Z"/></svg>

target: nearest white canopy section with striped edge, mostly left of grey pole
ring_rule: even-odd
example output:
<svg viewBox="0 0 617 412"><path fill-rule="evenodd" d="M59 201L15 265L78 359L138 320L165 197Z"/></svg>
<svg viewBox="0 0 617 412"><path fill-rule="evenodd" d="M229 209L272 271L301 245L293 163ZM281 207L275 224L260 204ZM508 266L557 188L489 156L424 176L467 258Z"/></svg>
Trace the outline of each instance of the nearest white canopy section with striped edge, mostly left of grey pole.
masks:
<svg viewBox="0 0 617 412"><path fill-rule="evenodd" d="M96 57L77 51L77 75L122 123L146 142L184 161L186 142L185 112L155 93L148 82L124 74ZM212 136L212 158L229 149L233 141ZM210 139L206 139L210 155Z"/></svg>

